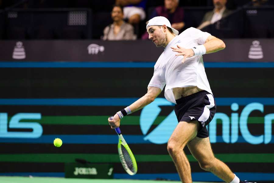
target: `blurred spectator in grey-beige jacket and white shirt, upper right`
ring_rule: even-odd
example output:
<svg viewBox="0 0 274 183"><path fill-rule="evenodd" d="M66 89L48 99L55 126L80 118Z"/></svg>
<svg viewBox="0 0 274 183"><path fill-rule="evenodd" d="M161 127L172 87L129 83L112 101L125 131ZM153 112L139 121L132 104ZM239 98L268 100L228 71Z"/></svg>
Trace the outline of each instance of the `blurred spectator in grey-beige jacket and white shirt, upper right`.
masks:
<svg viewBox="0 0 274 183"><path fill-rule="evenodd" d="M214 9L205 14L201 24L197 29L202 29L209 24L213 24L218 20L228 16L232 11L226 8L227 0L213 0Z"/></svg>

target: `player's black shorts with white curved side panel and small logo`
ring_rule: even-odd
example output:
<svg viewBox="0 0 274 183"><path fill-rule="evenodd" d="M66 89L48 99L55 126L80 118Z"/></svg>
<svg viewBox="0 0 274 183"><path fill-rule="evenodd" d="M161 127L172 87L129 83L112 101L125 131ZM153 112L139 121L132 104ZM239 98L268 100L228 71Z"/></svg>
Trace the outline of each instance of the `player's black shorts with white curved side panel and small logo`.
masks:
<svg viewBox="0 0 274 183"><path fill-rule="evenodd" d="M216 102L213 95L203 90L177 99L176 103L174 110L178 122L199 121L200 129L197 137L208 137L206 125L209 124L216 112Z"/></svg>

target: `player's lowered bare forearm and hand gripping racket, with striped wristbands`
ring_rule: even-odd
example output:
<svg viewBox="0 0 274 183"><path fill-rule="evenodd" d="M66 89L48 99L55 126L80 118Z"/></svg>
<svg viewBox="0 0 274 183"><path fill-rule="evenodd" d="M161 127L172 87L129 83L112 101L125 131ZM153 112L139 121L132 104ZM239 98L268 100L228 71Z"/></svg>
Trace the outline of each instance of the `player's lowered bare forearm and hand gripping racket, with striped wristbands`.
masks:
<svg viewBox="0 0 274 183"><path fill-rule="evenodd" d="M133 113L139 109L142 109L146 105L150 104L155 100L155 98L161 93L161 89L157 87L148 87L147 93L142 96L140 99L135 101L130 106L126 107L125 109L122 109L121 111L117 112L113 120L110 120L108 118L108 122L111 125L111 129L119 127L120 126L120 120L121 118L129 113Z"/></svg>

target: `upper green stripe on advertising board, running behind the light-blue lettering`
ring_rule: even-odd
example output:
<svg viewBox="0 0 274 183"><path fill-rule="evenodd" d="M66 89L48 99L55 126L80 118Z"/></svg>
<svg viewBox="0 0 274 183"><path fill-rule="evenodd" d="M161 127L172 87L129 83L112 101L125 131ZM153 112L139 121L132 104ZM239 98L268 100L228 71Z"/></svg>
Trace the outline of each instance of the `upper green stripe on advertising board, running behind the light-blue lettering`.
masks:
<svg viewBox="0 0 274 183"><path fill-rule="evenodd" d="M109 116L42 116L41 120L33 120L40 124L64 124L64 125L109 125L107 123L107 118ZM158 116L153 124L160 124L166 116ZM9 117L10 120L10 117ZM32 120L21 120L32 121ZM230 119L231 121L231 119ZM126 125L139 125L140 117L139 116L127 116L122 120L123 124ZM248 117L248 124L263 124L264 117ZM272 120L274 123L274 120ZM222 120L218 119L217 124L222 124Z"/></svg>

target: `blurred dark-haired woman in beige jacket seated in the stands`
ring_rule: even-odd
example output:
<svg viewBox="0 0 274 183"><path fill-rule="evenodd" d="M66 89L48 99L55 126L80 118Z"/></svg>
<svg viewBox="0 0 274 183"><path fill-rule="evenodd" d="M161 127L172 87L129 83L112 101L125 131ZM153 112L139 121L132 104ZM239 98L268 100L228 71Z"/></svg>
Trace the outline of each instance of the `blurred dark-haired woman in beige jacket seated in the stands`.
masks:
<svg viewBox="0 0 274 183"><path fill-rule="evenodd" d="M104 29L103 40L135 40L134 28L131 24L123 20L123 8L119 5L114 5L111 18L113 23Z"/></svg>

